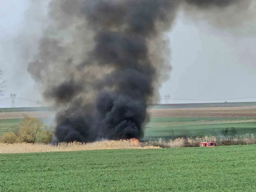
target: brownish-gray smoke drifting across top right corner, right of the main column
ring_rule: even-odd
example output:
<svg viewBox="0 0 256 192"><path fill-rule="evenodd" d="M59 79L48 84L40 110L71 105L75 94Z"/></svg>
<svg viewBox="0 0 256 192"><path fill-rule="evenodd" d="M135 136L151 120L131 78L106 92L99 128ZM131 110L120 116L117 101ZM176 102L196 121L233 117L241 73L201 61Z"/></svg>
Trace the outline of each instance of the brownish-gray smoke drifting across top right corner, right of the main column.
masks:
<svg viewBox="0 0 256 192"><path fill-rule="evenodd" d="M255 8L253 0L185 0L182 5L187 18L229 32L253 20Z"/></svg>

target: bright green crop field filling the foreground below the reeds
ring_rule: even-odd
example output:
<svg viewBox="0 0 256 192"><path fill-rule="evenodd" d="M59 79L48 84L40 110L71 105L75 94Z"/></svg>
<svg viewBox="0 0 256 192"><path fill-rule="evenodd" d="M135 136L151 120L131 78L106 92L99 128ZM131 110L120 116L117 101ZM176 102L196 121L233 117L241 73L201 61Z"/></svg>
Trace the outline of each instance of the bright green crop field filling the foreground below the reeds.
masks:
<svg viewBox="0 0 256 192"><path fill-rule="evenodd" d="M0 155L1 192L256 191L256 145Z"/></svg>

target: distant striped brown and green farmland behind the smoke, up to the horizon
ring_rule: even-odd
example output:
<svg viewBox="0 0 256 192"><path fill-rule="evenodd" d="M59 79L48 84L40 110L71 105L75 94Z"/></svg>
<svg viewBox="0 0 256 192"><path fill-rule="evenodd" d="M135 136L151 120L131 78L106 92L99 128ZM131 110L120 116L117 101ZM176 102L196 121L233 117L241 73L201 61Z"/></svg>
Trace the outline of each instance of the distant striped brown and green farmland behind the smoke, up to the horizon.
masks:
<svg viewBox="0 0 256 192"><path fill-rule="evenodd" d="M42 119L53 117L51 108L0 109L0 135L20 121L23 114ZM178 137L232 134L256 134L256 102L162 104L149 108L150 122L142 140L164 140Z"/></svg>

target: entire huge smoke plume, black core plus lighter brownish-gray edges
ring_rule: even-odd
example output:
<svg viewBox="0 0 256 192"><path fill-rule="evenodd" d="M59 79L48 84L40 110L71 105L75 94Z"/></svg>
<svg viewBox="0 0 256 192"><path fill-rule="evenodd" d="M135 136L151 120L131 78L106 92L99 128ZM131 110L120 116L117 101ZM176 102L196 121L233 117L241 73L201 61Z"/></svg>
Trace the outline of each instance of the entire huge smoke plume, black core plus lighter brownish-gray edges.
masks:
<svg viewBox="0 0 256 192"><path fill-rule="evenodd" d="M143 137L147 106L171 70L165 32L177 11L239 2L52 0L28 71L57 109L55 142Z"/></svg>

